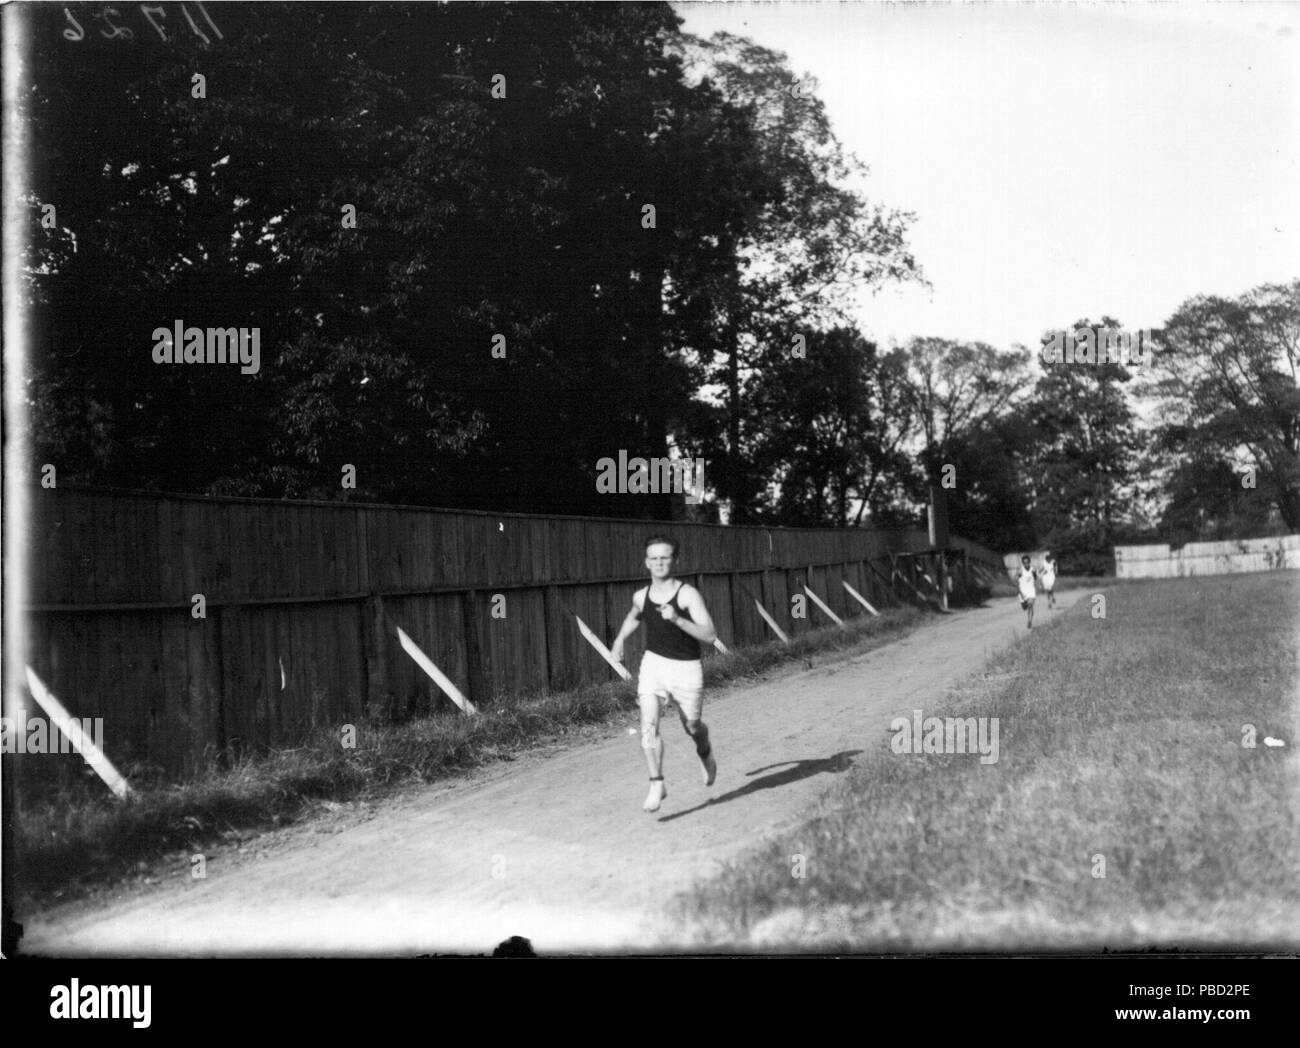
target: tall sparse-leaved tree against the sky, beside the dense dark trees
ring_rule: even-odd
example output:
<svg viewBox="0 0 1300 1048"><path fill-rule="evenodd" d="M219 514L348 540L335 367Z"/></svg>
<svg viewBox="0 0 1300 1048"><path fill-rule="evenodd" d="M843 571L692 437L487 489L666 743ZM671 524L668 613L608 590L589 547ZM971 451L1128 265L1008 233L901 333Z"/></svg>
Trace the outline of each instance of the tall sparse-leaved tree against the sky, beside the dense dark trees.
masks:
<svg viewBox="0 0 1300 1048"><path fill-rule="evenodd" d="M905 243L913 216L849 187L866 168L845 155L822 101L792 90L784 55L725 33L682 36L679 48L688 69L750 127L737 139L746 152L733 166L746 177L711 186L738 221L719 238L724 265L703 285L712 338L696 346L708 361L706 381L723 390L722 410L708 416L720 429L702 436L725 447L720 490L732 521L742 523L763 498L754 445L775 421L757 411L754 384L771 406L775 386L760 373L784 373L797 338L810 342L814 332L842 324L849 291L919 276ZM809 464L809 476L827 468L836 467Z"/></svg>

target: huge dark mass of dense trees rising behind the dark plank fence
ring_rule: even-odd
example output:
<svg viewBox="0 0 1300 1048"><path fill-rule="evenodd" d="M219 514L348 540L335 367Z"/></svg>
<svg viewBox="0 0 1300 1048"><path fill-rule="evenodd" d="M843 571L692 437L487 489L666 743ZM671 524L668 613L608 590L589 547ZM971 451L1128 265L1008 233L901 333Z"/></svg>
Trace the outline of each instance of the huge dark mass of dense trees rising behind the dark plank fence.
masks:
<svg viewBox="0 0 1300 1048"><path fill-rule="evenodd" d="M351 463L370 498L647 510L595 464L690 416L701 289L758 174L667 4L222 7L207 43L73 42L98 8L69 10L25 14L34 221L58 204L30 259L38 462L290 497ZM257 328L260 371L152 363L178 317Z"/></svg>

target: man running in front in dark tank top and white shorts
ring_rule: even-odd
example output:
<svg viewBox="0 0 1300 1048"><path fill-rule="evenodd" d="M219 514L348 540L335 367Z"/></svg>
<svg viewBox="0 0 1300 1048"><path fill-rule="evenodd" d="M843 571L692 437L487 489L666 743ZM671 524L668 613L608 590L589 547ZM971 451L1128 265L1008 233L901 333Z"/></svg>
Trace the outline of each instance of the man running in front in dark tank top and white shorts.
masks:
<svg viewBox="0 0 1300 1048"><path fill-rule="evenodd" d="M610 653L623 662L623 642L642 619L646 624L646 653L641 657L637 679L637 705L641 707L641 749L650 768L650 792L642 807L658 811L668 796L663 784L663 740L659 737L660 696L677 706L681 727L696 742L705 785L718 776L718 762L708 742L703 713L705 666L699 644L718 638L714 620L699 590L672 577L677 544L662 534L646 540L646 568L650 585L632 596L632 610L623 620Z"/></svg>

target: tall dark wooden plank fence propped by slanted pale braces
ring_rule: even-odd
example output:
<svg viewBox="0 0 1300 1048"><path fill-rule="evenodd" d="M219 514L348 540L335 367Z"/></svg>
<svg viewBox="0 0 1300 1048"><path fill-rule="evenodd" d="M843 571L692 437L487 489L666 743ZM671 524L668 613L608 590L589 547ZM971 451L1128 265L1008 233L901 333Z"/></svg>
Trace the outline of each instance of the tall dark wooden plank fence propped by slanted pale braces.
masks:
<svg viewBox="0 0 1300 1048"><path fill-rule="evenodd" d="M646 581L655 531L682 544L679 573L702 590L728 646L771 637L751 596L798 635L826 624L811 605L792 618L805 584L841 618L864 614L842 581L881 606L926 585L923 558L906 555L926 549L920 531L62 488L34 491L30 506L29 664L74 716L104 718L113 761L166 775L368 714L441 709L398 627L480 707L608 680L573 612L612 638ZM952 547L968 572L1000 566L975 544ZM196 594L205 618L192 614ZM633 667L640 644L628 645Z"/></svg>

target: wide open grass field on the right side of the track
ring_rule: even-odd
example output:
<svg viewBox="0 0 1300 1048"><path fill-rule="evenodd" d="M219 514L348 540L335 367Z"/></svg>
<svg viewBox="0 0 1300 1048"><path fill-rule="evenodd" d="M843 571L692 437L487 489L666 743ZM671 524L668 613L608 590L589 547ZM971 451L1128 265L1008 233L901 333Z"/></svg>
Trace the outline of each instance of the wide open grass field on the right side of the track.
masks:
<svg viewBox="0 0 1300 1048"><path fill-rule="evenodd" d="M1104 619L1080 599L926 711L998 718L997 763L881 724L805 823L675 900L672 941L1300 945L1300 572L1098 592Z"/></svg>

